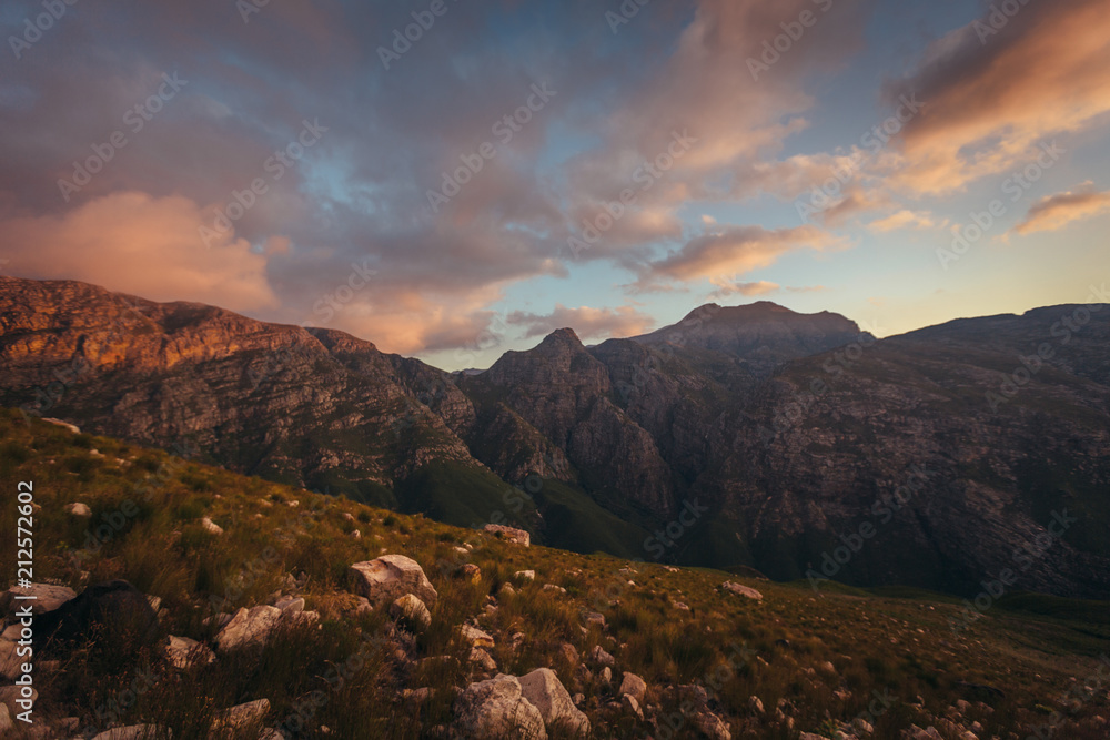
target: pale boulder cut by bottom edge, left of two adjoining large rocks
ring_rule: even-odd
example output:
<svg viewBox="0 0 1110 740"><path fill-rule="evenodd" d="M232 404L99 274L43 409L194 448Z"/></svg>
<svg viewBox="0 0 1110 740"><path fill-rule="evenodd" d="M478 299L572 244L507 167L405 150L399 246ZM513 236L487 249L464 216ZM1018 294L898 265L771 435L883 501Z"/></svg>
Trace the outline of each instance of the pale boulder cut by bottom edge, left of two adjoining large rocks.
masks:
<svg viewBox="0 0 1110 740"><path fill-rule="evenodd" d="M473 740L547 740L544 718L524 698L515 676L498 673L471 683L455 699L455 722L463 737Z"/></svg>

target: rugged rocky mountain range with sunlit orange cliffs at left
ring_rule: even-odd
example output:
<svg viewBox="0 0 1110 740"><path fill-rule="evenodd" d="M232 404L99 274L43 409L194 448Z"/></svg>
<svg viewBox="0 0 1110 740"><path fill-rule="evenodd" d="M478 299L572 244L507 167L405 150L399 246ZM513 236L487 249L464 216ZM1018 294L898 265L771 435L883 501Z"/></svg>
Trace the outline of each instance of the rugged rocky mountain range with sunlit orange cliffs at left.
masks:
<svg viewBox="0 0 1110 740"><path fill-rule="evenodd" d="M703 307L451 375L340 332L0 278L0 404L555 546L967 594L1010 568L1106 598L1110 308L1078 311L875 341Z"/></svg>

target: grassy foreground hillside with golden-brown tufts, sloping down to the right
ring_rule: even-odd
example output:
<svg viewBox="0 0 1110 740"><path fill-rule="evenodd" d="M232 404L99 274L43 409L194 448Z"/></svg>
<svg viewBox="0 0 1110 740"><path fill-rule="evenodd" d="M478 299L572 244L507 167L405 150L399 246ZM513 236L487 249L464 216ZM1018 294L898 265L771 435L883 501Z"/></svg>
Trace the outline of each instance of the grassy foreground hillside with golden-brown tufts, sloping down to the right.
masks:
<svg viewBox="0 0 1110 740"><path fill-rule="evenodd" d="M75 717L82 729L103 730L114 719L169 727L176 740L201 739L216 711L265 698L266 726L299 723L299 737L451 737L455 690L477 680L455 628L475 619L494 637L497 670L519 676L549 666L572 695L581 693L595 738L700 737L676 688L690 683L706 687L707 709L734 738L833 737L876 707L877 696L888 706L870 720L874 738L899 738L916 723L955 740L973 722L979 738L1025 738L1054 710L1068 722L1056 737L1107 737L1100 721L1108 716L1106 685L1087 700L1062 701L1110 652L1104 605L1012 597L955 632L950 620L963 605L951 598L833 584L818 594L804 581L771 584L525 548L420 515L41 422L28 425L18 413L0 410L4 587L14 577L8 564L16 559L12 501L21 480L34 483L41 506L34 516L37 580L80 592L124 578L161 599L160 636L211 641L215 627L204 619L216 608L264 604L275 591L299 592L321 615L320 629L290 628L263 648L220 653L215 663L188 670L168 665L157 645L89 636L57 662L39 663L37 718L54 726ZM451 507L444 481L430 485L435 500ZM582 506L566 491L549 491L541 504L551 511ZM91 520L64 510L75 501L91 508ZM120 511L131 514L120 521L113 516ZM456 514L465 519L472 511ZM202 517L224 534L205 531ZM104 530L104 521L119 526ZM608 527L601 520L596 530L583 530L585 546L635 534L607 534ZM98 531L105 541L93 539ZM418 636L394 629L384 609L355 614L347 567L384 553L417 560L440 592L432 625ZM478 566L480 577L460 577L465 564ZM535 570L535 581L514 579L523 569ZM757 588L764 598L725 592L725 580ZM508 582L515 592L504 589ZM548 584L565 594L545 589ZM604 615L606 626L587 627L588 611ZM565 645L582 657L588 676ZM595 646L615 656L612 682L586 659ZM614 706L622 671L647 681L644 720ZM129 693L137 686L142 690ZM431 689L428 697L402 693L417 688ZM953 709L961 700L969 703Z"/></svg>

